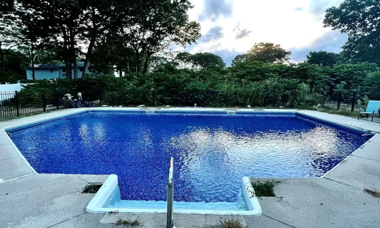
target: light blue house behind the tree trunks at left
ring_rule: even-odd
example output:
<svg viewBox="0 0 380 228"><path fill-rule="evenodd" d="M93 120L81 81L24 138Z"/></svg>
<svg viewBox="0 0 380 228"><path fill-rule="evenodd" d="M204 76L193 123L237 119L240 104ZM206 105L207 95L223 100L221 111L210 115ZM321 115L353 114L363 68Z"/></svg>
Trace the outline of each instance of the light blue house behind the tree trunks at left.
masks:
<svg viewBox="0 0 380 228"><path fill-rule="evenodd" d="M78 78L82 78L84 62L78 62ZM91 65L89 66L89 69ZM74 68L72 68L72 78L74 78ZM87 73L91 73L89 70ZM35 64L34 65L35 79L66 79L65 64ZM67 75L68 76L68 75ZM26 67L26 79L33 79L32 66Z"/></svg>

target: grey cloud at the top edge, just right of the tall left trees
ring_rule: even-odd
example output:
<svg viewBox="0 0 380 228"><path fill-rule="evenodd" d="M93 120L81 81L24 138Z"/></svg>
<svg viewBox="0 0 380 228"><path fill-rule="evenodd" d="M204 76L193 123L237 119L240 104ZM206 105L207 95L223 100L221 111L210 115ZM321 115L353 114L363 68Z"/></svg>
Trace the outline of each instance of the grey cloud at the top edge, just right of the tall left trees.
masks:
<svg viewBox="0 0 380 228"><path fill-rule="evenodd" d="M215 21L221 16L232 16L232 2L227 0L204 0L203 11L199 16L200 21L211 20Z"/></svg>

